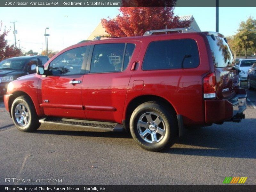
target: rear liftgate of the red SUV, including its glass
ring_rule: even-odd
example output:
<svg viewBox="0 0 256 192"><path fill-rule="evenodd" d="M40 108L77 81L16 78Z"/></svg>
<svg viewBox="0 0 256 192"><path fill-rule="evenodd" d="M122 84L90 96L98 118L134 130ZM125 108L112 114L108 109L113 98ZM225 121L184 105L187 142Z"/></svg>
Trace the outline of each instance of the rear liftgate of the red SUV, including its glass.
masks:
<svg viewBox="0 0 256 192"><path fill-rule="evenodd" d="M228 43L223 36L207 36L210 44L216 76L216 91L219 99L232 98L238 87L239 76Z"/></svg>

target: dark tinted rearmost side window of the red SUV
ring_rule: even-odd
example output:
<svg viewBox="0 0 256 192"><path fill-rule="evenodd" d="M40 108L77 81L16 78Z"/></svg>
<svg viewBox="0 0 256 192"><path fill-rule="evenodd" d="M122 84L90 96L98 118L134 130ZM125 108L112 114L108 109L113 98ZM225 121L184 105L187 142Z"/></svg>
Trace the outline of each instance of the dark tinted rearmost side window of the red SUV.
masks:
<svg viewBox="0 0 256 192"><path fill-rule="evenodd" d="M155 41L148 46L142 69L196 68L199 63L198 47L195 40Z"/></svg>

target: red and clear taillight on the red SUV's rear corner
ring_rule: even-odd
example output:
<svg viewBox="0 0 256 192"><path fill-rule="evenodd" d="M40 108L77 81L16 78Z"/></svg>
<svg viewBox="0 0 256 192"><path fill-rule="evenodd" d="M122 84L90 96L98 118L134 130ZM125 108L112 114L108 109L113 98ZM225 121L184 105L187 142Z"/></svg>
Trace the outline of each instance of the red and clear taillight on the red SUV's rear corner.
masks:
<svg viewBox="0 0 256 192"><path fill-rule="evenodd" d="M215 73L210 73L204 77L204 99L216 97Z"/></svg>

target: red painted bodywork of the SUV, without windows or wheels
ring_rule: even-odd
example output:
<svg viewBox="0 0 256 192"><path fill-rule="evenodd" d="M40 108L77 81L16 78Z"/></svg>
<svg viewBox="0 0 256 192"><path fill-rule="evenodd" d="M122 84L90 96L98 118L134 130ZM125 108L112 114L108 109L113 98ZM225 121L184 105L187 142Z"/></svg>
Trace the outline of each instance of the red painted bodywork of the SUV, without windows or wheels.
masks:
<svg viewBox="0 0 256 192"><path fill-rule="evenodd" d="M195 40L200 57L199 66L184 69L142 70L141 66L149 43L169 39ZM128 118L129 104L140 96L148 95L157 96L169 102L176 114L183 117L183 123L187 126L219 123L232 118L233 107L228 99L234 97L238 89L238 73L234 72L232 67L214 68L206 33L138 36L85 42L59 52L44 67L47 69L52 60L70 49L106 43L136 45L126 70L67 76L37 74L24 76L13 81L11 83L13 89L7 90L4 96L6 109L10 111L10 95L24 92L32 99L38 116L122 124L122 121ZM229 76L231 71L235 76ZM216 76L216 98L204 99L203 79L213 72ZM69 81L73 80L79 80L82 83L69 84ZM222 89L229 84L232 84L232 89L223 94ZM45 100L49 102L44 102Z"/></svg>

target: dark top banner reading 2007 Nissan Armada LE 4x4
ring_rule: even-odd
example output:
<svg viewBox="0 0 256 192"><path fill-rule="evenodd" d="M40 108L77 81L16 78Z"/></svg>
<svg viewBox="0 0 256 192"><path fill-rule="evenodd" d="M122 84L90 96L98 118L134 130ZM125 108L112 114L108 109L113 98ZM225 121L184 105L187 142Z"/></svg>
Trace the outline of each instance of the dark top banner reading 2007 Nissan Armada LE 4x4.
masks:
<svg viewBox="0 0 256 192"><path fill-rule="evenodd" d="M1 0L0 7L216 7L216 0ZM219 7L256 7L255 0L219 0Z"/></svg>

